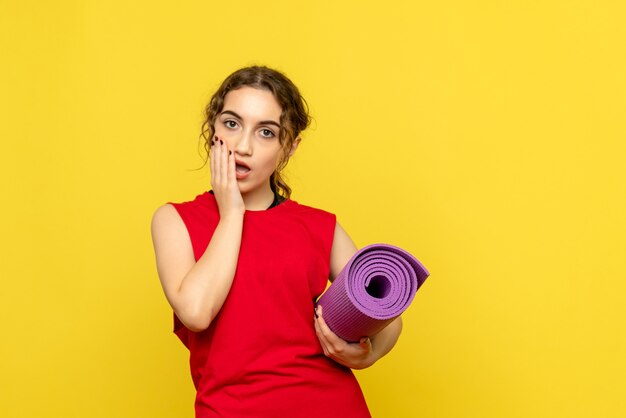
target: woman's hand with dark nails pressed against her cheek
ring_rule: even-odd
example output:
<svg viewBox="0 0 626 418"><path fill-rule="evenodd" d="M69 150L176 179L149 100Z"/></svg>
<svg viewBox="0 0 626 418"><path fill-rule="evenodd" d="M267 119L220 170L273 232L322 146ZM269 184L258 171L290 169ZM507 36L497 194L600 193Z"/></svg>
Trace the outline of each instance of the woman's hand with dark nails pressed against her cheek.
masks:
<svg viewBox="0 0 626 418"><path fill-rule="evenodd" d="M237 184L235 155L217 135L211 144L211 187L217 200L220 217L243 216L246 207Z"/></svg>

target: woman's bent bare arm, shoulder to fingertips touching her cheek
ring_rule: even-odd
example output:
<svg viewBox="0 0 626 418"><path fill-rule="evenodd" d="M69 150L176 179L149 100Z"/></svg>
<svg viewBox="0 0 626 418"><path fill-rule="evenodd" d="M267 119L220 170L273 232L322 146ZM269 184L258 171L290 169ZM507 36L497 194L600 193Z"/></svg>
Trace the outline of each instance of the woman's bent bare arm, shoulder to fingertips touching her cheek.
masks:
<svg viewBox="0 0 626 418"><path fill-rule="evenodd" d="M152 217L161 285L176 316L192 331L208 328L226 300L237 269L245 213L235 156L217 137L211 146L210 167L220 220L197 263L189 233L176 209L163 205Z"/></svg>

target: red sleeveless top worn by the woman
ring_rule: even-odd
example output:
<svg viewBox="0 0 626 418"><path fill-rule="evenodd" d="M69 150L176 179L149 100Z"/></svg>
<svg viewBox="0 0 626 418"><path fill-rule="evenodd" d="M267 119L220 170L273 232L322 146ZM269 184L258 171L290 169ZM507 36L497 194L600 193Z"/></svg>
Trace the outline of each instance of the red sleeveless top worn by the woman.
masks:
<svg viewBox="0 0 626 418"><path fill-rule="evenodd" d="M215 196L168 203L197 261L219 221ZM245 212L233 284L209 328L192 332L174 315L190 351L196 417L371 416L352 370L326 357L315 334L335 223L334 214L291 199Z"/></svg>

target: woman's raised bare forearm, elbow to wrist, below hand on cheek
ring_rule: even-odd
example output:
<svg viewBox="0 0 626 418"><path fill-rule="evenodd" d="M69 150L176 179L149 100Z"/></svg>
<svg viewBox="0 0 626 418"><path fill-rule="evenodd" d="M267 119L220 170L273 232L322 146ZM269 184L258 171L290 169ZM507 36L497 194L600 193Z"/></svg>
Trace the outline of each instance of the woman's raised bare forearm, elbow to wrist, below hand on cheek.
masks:
<svg viewBox="0 0 626 418"><path fill-rule="evenodd" d="M222 308L233 283L243 216L221 218L204 254L178 289L176 315L192 331L208 328Z"/></svg>

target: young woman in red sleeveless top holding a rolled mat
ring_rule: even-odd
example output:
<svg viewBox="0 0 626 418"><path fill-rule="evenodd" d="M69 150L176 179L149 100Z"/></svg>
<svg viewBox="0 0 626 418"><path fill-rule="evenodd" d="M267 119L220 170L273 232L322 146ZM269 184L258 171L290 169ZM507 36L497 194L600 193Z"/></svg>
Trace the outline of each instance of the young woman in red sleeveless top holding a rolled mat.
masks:
<svg viewBox="0 0 626 418"><path fill-rule="evenodd" d="M231 74L206 108L211 190L152 219L157 270L190 350L196 417L368 417L351 369L391 350L398 317L348 343L314 304L357 251L334 214L299 204L281 170L309 125L282 73Z"/></svg>

